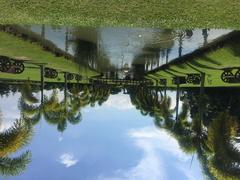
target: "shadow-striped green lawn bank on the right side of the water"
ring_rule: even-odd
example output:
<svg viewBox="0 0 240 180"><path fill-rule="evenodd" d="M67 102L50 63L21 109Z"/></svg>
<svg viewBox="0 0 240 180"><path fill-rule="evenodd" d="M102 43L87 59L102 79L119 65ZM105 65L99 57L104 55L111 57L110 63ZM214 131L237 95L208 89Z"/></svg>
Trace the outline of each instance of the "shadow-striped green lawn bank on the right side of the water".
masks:
<svg viewBox="0 0 240 180"><path fill-rule="evenodd" d="M205 87L233 87L240 83L224 83L221 80L222 68L240 68L240 33L233 32L221 37L216 42L205 48L194 51L191 54L175 59L169 65L160 67L147 75L148 79L167 79L168 87L175 87L172 84L172 77L186 76L188 73L206 74ZM237 69L233 70L235 73ZM181 85L182 87L194 87L196 85ZM198 85L199 86L199 85Z"/></svg>

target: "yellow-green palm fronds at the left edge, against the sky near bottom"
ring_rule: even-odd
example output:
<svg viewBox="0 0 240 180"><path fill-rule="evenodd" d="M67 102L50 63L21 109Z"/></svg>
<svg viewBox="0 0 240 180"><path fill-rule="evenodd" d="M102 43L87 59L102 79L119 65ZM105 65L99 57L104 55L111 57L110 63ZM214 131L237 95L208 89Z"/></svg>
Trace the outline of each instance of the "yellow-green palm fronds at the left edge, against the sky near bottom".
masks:
<svg viewBox="0 0 240 180"><path fill-rule="evenodd" d="M17 120L13 126L0 133L0 173L5 176L20 174L30 162L31 153L26 151L16 158L8 157L25 146L32 137L32 125L26 120Z"/></svg>

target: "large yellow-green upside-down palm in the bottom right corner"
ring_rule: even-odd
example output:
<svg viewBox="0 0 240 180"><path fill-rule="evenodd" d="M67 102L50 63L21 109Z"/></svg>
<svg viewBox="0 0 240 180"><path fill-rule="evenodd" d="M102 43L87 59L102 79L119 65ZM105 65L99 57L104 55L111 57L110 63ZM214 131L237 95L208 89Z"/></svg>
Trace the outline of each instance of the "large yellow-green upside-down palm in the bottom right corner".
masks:
<svg viewBox="0 0 240 180"><path fill-rule="evenodd" d="M209 168L218 179L240 176L240 152L232 144L238 128L238 119L227 111L219 113L208 128Z"/></svg>

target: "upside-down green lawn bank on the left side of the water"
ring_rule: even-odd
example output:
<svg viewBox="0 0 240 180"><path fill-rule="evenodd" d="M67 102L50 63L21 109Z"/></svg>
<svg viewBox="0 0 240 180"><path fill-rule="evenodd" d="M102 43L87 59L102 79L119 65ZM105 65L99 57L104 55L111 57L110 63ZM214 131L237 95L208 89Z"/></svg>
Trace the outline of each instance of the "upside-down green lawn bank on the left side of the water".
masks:
<svg viewBox="0 0 240 180"><path fill-rule="evenodd" d="M37 43L24 41L14 35L6 32L0 32L0 55L8 56L14 59L26 59L26 62L47 63L46 67L54 68L59 72L71 72L81 74L82 76L95 76L97 73L87 67L79 66L72 60L62 57L56 57L50 51L45 51ZM25 63L25 71L22 74L0 73L1 79L16 79L16 80L40 80L40 68L36 65ZM56 80L47 79L49 82L63 82L63 73Z"/></svg>

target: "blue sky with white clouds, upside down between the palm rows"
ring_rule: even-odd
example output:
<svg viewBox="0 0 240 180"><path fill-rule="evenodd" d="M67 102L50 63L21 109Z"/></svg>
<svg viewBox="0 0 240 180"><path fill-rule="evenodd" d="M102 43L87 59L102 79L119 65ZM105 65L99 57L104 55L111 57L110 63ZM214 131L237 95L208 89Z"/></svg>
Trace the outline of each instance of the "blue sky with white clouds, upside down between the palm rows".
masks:
<svg viewBox="0 0 240 180"><path fill-rule="evenodd" d="M5 128L19 115L18 98L16 94L0 101ZM152 118L142 116L128 95L110 96L101 107L83 109L82 116L79 124L68 124L64 133L42 119L31 143L16 153L30 150L32 162L22 175L10 179L203 179L196 157L190 166L192 155L156 128Z"/></svg>

